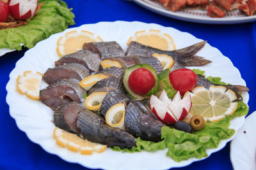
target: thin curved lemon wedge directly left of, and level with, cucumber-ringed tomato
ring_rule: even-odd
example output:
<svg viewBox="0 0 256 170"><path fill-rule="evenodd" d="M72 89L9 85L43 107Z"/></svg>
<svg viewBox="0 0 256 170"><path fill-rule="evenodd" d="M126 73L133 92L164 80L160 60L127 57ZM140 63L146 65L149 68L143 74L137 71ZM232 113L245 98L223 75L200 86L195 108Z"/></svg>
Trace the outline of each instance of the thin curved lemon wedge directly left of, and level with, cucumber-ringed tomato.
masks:
<svg viewBox="0 0 256 170"><path fill-rule="evenodd" d="M108 76L104 74L92 74L81 80L79 85L83 87L84 90L90 90L95 83L105 78L108 78Z"/></svg>

